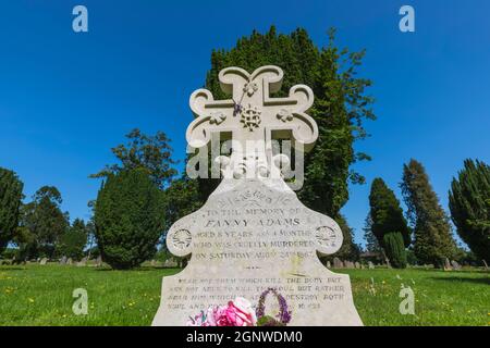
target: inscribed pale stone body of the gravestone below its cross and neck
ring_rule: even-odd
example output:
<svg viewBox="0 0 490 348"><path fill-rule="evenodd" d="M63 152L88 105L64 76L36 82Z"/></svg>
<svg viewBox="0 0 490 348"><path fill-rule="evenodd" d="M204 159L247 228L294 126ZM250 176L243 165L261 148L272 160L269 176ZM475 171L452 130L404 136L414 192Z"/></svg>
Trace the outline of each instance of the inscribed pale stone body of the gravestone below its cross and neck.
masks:
<svg viewBox="0 0 490 348"><path fill-rule="evenodd" d="M236 296L257 303L269 287L285 297L291 325L362 325L348 276L332 273L316 254L336 251L339 226L284 187L244 181L215 191L172 226L168 240L173 253L192 252L192 259L163 278L154 325L184 325L189 315Z"/></svg>

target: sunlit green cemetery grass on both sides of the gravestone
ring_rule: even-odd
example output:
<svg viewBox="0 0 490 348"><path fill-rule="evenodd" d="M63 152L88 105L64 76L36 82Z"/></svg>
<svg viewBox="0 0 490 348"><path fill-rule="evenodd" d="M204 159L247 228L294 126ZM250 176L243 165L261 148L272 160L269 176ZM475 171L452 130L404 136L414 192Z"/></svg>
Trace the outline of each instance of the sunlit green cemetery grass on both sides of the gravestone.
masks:
<svg viewBox="0 0 490 348"><path fill-rule="evenodd" d="M58 264L0 266L0 325L149 325L160 301L162 276L177 272ZM350 274L365 325L490 325L489 273L421 269L336 272ZM415 315L399 312L402 284L415 293ZM87 315L72 312L75 288L88 291Z"/></svg>

